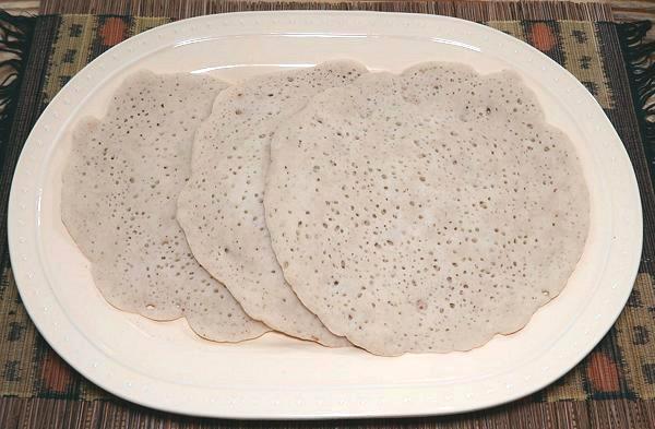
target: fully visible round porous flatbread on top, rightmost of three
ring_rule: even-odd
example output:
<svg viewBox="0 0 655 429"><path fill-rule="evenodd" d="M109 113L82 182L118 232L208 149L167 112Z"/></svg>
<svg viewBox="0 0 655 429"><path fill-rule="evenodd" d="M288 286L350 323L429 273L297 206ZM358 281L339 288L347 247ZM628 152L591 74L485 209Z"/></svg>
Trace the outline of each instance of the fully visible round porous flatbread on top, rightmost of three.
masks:
<svg viewBox="0 0 655 429"><path fill-rule="evenodd" d="M512 72L425 63L314 97L271 142L264 205L301 301L379 355L467 350L565 286L588 191Z"/></svg>

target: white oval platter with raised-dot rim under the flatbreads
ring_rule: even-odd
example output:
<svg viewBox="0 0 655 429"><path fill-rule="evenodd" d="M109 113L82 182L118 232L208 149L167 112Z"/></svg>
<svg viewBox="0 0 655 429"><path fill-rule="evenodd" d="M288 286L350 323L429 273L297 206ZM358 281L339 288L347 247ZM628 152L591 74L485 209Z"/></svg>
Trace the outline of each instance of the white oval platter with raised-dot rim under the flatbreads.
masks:
<svg viewBox="0 0 655 429"><path fill-rule="evenodd" d="M590 239L562 294L517 333L467 353L371 356L277 334L236 345L195 336L183 320L158 323L109 306L60 219L70 130L103 115L136 69L212 73L228 81L349 58L371 70L421 61L512 69L547 119L573 140L592 195ZM501 32L456 19L373 12L252 12L179 21L103 53L52 99L21 155L9 240L23 302L55 350L128 401L198 416L329 418L479 409L533 393L575 366L619 315L642 242L639 190L600 106L569 72Z"/></svg>

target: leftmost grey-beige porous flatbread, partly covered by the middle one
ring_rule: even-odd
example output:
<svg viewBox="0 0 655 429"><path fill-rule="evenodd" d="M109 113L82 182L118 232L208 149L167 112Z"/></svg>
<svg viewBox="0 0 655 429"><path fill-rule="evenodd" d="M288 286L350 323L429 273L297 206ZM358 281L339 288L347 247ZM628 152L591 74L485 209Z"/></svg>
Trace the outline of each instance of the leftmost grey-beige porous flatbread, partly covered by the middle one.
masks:
<svg viewBox="0 0 655 429"><path fill-rule="evenodd" d="M154 320L186 317L199 335L233 342L270 329L198 264L175 217L193 134L225 87L191 74L128 76L106 116L73 132L61 217L112 306Z"/></svg>

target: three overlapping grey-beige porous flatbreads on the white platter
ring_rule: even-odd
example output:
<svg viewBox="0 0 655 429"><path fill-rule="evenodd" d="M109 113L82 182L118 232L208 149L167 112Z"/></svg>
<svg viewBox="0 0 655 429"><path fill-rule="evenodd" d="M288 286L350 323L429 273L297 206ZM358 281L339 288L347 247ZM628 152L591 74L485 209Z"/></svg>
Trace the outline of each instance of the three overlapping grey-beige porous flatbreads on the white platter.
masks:
<svg viewBox="0 0 655 429"><path fill-rule="evenodd" d="M571 141L513 72L141 71L73 132L62 219L109 303L377 355L524 326L584 249Z"/></svg>

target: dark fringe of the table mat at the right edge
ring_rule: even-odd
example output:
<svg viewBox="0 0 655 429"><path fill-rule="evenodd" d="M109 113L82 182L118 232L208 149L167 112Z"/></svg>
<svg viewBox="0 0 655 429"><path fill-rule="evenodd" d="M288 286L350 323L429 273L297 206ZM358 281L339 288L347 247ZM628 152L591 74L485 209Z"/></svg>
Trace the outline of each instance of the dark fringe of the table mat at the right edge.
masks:
<svg viewBox="0 0 655 429"><path fill-rule="evenodd" d="M641 21L617 25L621 50L632 91L634 111L644 140L651 180L655 183L655 41L644 38L652 23Z"/></svg>

